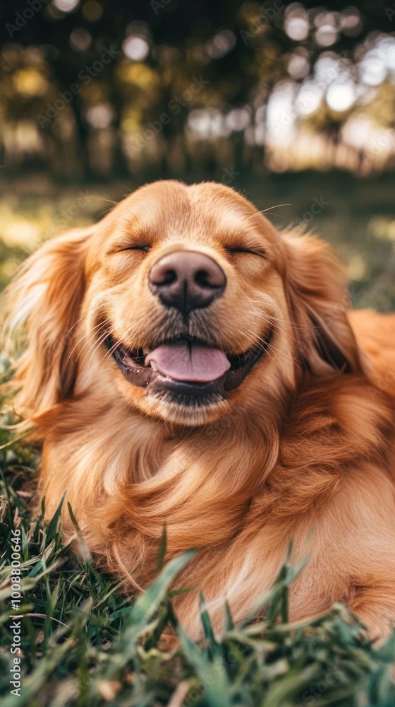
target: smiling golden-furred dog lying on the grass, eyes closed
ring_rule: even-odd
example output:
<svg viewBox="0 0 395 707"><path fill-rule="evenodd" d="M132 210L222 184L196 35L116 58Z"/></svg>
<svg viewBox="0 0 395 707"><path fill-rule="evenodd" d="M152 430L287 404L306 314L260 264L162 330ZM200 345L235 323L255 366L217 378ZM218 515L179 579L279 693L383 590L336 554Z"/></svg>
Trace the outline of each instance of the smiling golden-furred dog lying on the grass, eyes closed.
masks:
<svg viewBox="0 0 395 707"><path fill-rule="evenodd" d="M42 245L8 291L15 404L42 440L51 518L66 492L127 592L166 559L199 633L240 621L286 559L292 621L341 601L395 621L395 315L351 312L339 262L214 182L159 181ZM16 343L15 343L16 342ZM63 533L72 537L63 504Z"/></svg>

